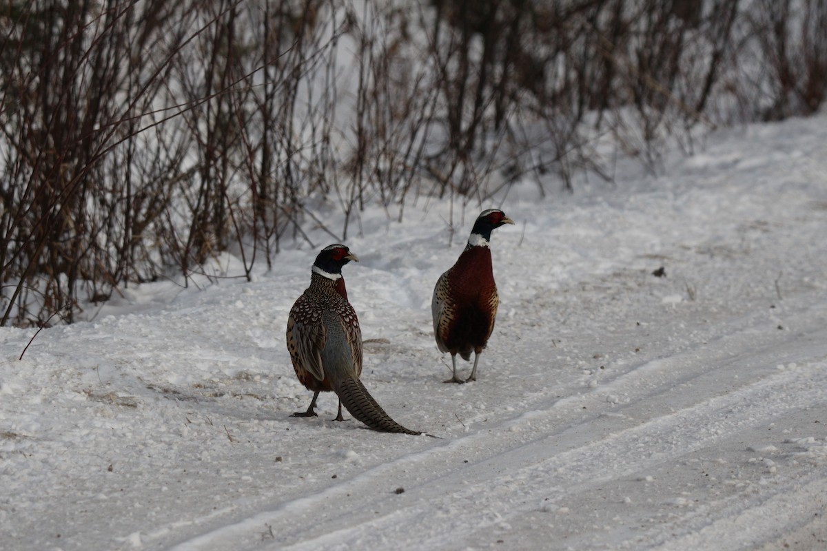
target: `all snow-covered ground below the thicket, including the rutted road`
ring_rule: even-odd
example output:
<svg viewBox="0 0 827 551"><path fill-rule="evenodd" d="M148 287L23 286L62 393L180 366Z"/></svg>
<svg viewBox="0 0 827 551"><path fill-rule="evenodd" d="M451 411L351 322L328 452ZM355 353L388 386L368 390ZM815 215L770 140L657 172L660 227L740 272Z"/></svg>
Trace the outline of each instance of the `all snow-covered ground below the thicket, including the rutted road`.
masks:
<svg viewBox="0 0 827 551"><path fill-rule="evenodd" d="M289 416L321 231L253 283L124 290L22 360L34 330L0 330L0 548L827 549L827 116L534 189L484 206L517 225L477 382L442 382L430 299L480 208L450 247L448 202L347 240L362 379L441 439L333 422L330 394Z"/></svg>

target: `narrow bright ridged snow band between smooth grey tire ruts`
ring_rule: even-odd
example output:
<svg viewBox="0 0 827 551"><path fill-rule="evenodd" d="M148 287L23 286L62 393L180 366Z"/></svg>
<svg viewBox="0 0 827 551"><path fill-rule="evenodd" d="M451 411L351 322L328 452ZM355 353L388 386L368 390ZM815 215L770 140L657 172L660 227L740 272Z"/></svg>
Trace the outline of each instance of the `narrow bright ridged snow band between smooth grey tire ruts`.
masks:
<svg viewBox="0 0 827 551"><path fill-rule="evenodd" d="M779 395L777 385L785 385L796 394L796 399L790 401L789 395ZM605 438L547 457L553 453L557 439L557 435L550 435L460 469L474 470L473 475L469 473L466 477L458 472L452 473L451 477L428 481L431 483L410 492L414 496L413 505L396 508L390 515L365 520L314 539L304 539L283 549L380 549L391 544L402 548L419 545L424 549L461 546L477 531L507 523L527 511L564 504L572 494L590 492L605 482L646 473L657 464L675 461L739 433L745 425L766 424L787 409L815 406L824 399L820 387L825 385L827 376L823 365L781 373L738 392L657 417L632 429L609 433ZM676 438L676 434L685 434L679 429L688 424L703 426L705 430L690 437ZM571 430L593 434L595 427L578 425ZM475 482L466 484L471 477ZM366 483L370 484L370 481ZM355 492L352 490L351 496ZM375 501L365 505L368 510L382 509L381 503ZM398 506L394 504L394 507ZM477 512L480 507L502 512L480 518ZM324 516L323 511L316 511L314 515L317 512ZM422 525L423 517L428 519L424 522L429 526L428 534L394 530L414 522ZM352 516L348 514L347 519L351 520ZM330 522L329 518L327 522Z"/></svg>

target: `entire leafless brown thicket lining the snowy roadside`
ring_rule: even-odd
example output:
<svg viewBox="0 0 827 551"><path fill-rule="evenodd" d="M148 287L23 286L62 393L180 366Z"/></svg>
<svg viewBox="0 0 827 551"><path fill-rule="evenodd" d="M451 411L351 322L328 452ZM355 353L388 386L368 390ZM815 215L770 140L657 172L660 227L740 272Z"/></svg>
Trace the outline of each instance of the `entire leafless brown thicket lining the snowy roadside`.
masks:
<svg viewBox="0 0 827 551"><path fill-rule="evenodd" d="M42 324L367 204L811 114L827 0L9 0L0 64L0 325Z"/></svg>

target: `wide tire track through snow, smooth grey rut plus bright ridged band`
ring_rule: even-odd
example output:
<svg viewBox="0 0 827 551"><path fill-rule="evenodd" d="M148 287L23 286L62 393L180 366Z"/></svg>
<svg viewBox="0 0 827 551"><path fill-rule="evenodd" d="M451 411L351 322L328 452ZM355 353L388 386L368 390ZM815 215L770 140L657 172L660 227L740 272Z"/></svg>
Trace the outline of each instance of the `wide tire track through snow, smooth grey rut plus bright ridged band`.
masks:
<svg viewBox="0 0 827 551"><path fill-rule="evenodd" d="M818 327L813 322L819 316L820 308L815 307L796 317L801 326ZM606 482L647 473L767 425L785 412L825 402L827 330L799 333L786 342L769 339L748 356L732 358L728 353L748 349L734 340L756 337L755 328L747 324L738 334L708 343L702 354L657 359L585 396L538 403L534 411L500 420L488 430L372 468L174 549L452 549L480 530L507 531L522 515L552 511ZM715 364L722 359L729 360ZM778 370L781 359L811 361ZM737 378L750 364L756 366L758 378ZM691 385L700 378L720 380L719 395L672 392L675 385ZM620 405L601 400L607 392L628 399ZM562 415L581 410L584 400L604 411L559 422ZM686 430L687 426L696 430ZM486 446L493 430L507 435L498 435ZM568 448L560 449L561 444ZM463 463L480 450L487 457ZM404 493L395 495L395 487L404 487ZM724 501L715 506L723 507ZM760 505L756 511L762 511ZM411 530L414 525L419 528ZM262 541L266 531L274 534L274 542Z"/></svg>

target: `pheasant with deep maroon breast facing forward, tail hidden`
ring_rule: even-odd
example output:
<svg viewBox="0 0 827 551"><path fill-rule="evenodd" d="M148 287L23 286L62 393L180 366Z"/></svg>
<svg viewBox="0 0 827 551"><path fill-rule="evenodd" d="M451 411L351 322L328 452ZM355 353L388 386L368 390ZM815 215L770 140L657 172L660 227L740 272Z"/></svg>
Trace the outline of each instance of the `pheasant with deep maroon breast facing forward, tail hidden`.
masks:
<svg viewBox="0 0 827 551"><path fill-rule="evenodd" d="M446 382L464 382L457 378L457 354L468 361L471 352L474 368L466 381L476 381L477 362L494 330L500 304L491 270L489 241L491 231L503 224L514 224L514 221L499 209L482 211L457 264L440 276L433 289L433 335L437 348L451 353L453 364L453 377Z"/></svg>

